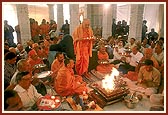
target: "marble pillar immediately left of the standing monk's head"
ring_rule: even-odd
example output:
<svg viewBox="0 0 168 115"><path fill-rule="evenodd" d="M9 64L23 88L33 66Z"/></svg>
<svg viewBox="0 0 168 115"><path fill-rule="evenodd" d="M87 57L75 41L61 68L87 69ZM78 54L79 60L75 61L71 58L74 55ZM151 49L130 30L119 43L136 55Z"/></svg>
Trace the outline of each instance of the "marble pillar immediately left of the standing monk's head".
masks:
<svg viewBox="0 0 168 115"><path fill-rule="evenodd" d="M70 35L74 29L80 24L79 22L79 4L70 4Z"/></svg>

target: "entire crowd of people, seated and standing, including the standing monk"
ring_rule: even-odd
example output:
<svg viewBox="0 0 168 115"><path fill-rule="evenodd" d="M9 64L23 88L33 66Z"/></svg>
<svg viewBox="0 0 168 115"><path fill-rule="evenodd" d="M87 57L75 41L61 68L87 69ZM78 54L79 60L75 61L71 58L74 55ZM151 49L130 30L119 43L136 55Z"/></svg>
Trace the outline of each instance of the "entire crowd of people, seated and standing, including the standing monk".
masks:
<svg viewBox="0 0 168 115"><path fill-rule="evenodd" d="M125 21L115 25L113 20L112 35L107 39L94 36L90 20L84 19L73 34L69 34L69 24L66 24L56 34L57 24L45 19L38 25L30 19L31 40L24 48L19 42L13 45L12 32L5 25L4 43L4 104L5 110L36 110L38 100L47 94L46 85L62 97L83 95L88 93L86 82L82 76L89 71L90 57L93 49L97 49L97 62L113 59L106 65L98 63L95 70L106 74L115 67L127 75L137 75L137 85L150 88L151 94L162 93L164 83L164 38L151 30L142 41L136 38L124 39L129 34L129 26ZM5 21L7 24L7 21ZM114 29L115 27L115 29ZM121 28L122 27L122 28ZM8 30L7 30L8 29ZM115 35L119 36L115 36ZM120 36L121 35L121 36ZM154 37L151 37L154 36ZM47 82L39 84L38 64L46 65L53 74ZM40 85L41 87L39 88ZM14 103L12 103L12 101ZM82 110L87 107L80 103Z"/></svg>

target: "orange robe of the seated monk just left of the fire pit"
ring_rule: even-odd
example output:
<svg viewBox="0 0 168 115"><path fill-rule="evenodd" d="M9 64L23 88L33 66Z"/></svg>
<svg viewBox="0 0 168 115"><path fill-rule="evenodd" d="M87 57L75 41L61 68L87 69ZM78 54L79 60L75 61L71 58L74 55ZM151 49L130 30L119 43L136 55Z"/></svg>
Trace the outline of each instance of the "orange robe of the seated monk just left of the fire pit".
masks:
<svg viewBox="0 0 168 115"><path fill-rule="evenodd" d="M82 77L75 77L73 69L69 70L65 66L58 71L54 88L61 96L81 95L83 91L87 92L86 83L82 81Z"/></svg>

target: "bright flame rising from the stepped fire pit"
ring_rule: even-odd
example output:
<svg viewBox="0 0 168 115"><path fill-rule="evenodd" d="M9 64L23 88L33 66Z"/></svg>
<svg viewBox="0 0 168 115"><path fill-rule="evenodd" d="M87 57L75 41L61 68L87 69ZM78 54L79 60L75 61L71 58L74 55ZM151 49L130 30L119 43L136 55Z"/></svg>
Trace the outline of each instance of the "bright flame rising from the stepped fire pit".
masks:
<svg viewBox="0 0 168 115"><path fill-rule="evenodd" d="M119 71L116 68L112 68L111 74L106 75L102 80L102 88L107 92L111 92L115 89L115 77L119 76Z"/></svg>

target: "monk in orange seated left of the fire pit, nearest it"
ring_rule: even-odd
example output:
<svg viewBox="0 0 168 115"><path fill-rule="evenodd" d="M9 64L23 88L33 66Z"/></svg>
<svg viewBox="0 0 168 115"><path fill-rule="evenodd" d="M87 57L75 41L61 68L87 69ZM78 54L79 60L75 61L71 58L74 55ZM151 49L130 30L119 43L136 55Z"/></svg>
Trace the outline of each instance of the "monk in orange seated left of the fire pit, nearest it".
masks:
<svg viewBox="0 0 168 115"><path fill-rule="evenodd" d="M74 74L74 61L72 59L65 59L64 64L65 66L58 71L54 81L54 88L61 96L72 96L71 99L73 99L76 104L79 99L82 110L86 110L88 107L83 102L83 98L87 95L88 91L86 83L82 80L81 76Z"/></svg>

